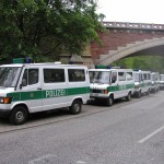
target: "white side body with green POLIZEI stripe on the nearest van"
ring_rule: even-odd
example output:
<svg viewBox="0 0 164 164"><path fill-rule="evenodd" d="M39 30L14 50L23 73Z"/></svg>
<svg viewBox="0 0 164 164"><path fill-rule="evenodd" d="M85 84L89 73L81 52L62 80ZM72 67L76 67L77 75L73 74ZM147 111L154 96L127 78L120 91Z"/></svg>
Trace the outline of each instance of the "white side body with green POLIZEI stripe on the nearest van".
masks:
<svg viewBox="0 0 164 164"><path fill-rule="evenodd" d="M28 66L28 69L32 67ZM30 113L49 110L72 105L73 99L81 98L86 103L90 98L90 80L86 67L83 66L35 66L39 70L36 84L23 86L21 90L8 94L12 97L12 109L15 105L25 104ZM27 69L27 68L25 68ZM68 69L78 72L79 80L70 80ZM83 75L83 77L81 77ZM22 78L23 75L21 75ZM19 85L22 80L19 82Z"/></svg>

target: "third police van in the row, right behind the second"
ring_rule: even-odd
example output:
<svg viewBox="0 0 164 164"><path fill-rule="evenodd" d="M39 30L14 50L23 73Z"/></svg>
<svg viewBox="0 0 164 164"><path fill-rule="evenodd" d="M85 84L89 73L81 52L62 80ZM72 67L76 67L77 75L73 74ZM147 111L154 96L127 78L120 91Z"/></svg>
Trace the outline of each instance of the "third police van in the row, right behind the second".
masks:
<svg viewBox="0 0 164 164"><path fill-rule="evenodd" d="M142 94L150 94L151 72L143 70L133 70L134 73L134 95L141 97Z"/></svg>

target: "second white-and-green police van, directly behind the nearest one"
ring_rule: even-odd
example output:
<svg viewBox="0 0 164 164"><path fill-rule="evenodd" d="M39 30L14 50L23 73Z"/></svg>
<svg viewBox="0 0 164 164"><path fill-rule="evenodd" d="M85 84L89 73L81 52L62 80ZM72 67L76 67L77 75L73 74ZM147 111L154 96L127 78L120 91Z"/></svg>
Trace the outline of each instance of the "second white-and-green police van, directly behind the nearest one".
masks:
<svg viewBox="0 0 164 164"><path fill-rule="evenodd" d="M132 72L131 69L102 69L101 66L97 69L90 69L91 99L103 99L108 106L117 98L126 97L130 101L134 90Z"/></svg>

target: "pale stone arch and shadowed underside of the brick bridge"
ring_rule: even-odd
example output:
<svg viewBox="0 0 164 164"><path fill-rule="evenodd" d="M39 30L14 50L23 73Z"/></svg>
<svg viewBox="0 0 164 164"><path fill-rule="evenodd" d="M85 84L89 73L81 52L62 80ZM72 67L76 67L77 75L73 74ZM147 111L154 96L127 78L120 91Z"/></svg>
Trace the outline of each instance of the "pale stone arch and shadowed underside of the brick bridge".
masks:
<svg viewBox="0 0 164 164"><path fill-rule="evenodd" d="M164 57L164 37L145 39L118 47L117 50L109 51L108 55L99 55L99 65L108 65L122 58L132 56L162 56Z"/></svg>

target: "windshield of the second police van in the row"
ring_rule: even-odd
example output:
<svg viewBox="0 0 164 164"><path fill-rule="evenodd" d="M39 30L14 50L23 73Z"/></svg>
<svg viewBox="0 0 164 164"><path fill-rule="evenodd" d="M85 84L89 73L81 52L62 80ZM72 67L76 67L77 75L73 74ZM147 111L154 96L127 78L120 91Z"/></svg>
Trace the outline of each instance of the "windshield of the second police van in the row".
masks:
<svg viewBox="0 0 164 164"><path fill-rule="evenodd" d="M109 71L90 71L91 83L109 84L110 72Z"/></svg>

